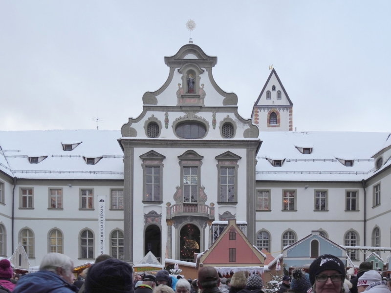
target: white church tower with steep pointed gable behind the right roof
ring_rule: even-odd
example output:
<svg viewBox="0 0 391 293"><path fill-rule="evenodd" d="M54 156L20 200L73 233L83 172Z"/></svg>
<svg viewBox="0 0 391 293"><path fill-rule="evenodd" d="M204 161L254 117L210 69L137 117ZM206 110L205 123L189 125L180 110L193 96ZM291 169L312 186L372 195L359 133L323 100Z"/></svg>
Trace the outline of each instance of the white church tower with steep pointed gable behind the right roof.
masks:
<svg viewBox="0 0 391 293"><path fill-rule="evenodd" d="M293 103L273 68L251 113L260 131L292 131Z"/></svg>

